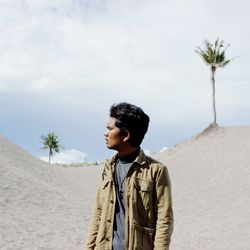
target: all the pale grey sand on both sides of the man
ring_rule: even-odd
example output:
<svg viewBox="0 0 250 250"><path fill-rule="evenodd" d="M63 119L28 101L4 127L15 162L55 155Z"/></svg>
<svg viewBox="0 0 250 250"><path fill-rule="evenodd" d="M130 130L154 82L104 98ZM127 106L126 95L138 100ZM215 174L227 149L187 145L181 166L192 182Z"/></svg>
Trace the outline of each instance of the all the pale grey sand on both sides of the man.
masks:
<svg viewBox="0 0 250 250"><path fill-rule="evenodd" d="M250 249L250 126L213 129L155 157L172 181L171 249ZM101 171L50 166L0 135L0 249L84 249Z"/></svg>

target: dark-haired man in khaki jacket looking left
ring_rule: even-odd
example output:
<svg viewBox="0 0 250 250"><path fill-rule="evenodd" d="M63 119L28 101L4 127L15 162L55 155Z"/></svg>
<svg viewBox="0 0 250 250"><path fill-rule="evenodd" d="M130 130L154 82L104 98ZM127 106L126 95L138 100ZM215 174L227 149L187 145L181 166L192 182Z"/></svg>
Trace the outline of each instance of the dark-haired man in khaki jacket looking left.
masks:
<svg viewBox="0 0 250 250"><path fill-rule="evenodd" d="M105 163L87 249L168 250L173 231L167 168L144 154L140 144L149 117L135 105L110 109L104 134L117 154Z"/></svg>

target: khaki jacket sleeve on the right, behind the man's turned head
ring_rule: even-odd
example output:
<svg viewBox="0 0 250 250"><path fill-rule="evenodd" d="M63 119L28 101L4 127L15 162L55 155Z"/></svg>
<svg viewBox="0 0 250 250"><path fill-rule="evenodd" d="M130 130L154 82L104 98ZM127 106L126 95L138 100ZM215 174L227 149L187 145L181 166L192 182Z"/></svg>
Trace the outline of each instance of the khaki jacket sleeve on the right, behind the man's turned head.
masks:
<svg viewBox="0 0 250 250"><path fill-rule="evenodd" d="M161 166L156 176L156 232L154 249L169 250L173 232L171 184L167 168Z"/></svg>

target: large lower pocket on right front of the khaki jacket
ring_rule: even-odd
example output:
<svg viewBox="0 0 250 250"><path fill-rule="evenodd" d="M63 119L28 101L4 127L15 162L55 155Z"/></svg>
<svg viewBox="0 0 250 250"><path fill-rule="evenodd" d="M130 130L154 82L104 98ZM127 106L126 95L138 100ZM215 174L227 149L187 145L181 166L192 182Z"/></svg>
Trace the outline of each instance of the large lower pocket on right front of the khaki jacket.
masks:
<svg viewBox="0 0 250 250"><path fill-rule="evenodd" d="M132 225L132 249L133 250L153 250L155 229L143 227L134 222Z"/></svg>

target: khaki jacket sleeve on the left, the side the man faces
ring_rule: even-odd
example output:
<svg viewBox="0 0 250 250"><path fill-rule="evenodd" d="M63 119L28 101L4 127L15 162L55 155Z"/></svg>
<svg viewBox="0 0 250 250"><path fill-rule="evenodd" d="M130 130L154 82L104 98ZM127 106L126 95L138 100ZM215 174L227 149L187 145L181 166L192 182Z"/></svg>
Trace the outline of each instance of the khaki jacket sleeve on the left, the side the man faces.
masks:
<svg viewBox="0 0 250 250"><path fill-rule="evenodd" d="M101 221L101 214L102 214L101 183L102 182L100 182L99 188L97 191L94 213L92 216L89 234L88 234L88 238L86 241L86 249L88 249L88 250L95 249L95 247L96 247L96 237L97 237L97 233L99 230L99 225L100 225L100 221Z"/></svg>

